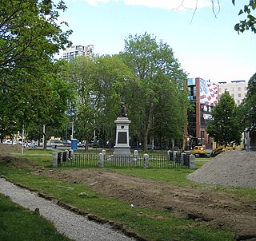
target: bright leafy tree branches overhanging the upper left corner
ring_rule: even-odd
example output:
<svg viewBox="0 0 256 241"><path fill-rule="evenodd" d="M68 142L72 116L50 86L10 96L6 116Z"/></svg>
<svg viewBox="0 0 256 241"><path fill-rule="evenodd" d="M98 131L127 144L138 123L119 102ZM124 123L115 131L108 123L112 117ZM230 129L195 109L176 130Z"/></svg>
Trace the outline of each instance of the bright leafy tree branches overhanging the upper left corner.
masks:
<svg viewBox="0 0 256 241"><path fill-rule="evenodd" d="M64 2L58 5L50 0L0 2L1 84L6 84L6 73L17 73L17 69L36 71L35 65L42 65L70 44L68 37L72 31L62 32L57 24L58 10L66 10Z"/></svg>

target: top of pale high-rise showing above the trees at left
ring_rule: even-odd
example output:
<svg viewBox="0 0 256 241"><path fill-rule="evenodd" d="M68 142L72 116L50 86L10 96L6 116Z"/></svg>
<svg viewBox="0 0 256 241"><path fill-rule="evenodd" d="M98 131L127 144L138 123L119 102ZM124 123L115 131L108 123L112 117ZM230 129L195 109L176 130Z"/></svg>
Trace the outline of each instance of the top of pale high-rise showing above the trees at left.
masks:
<svg viewBox="0 0 256 241"><path fill-rule="evenodd" d="M63 59L72 62L75 57L78 56L90 56L94 53L94 45L75 45L70 48L66 48L63 52Z"/></svg>

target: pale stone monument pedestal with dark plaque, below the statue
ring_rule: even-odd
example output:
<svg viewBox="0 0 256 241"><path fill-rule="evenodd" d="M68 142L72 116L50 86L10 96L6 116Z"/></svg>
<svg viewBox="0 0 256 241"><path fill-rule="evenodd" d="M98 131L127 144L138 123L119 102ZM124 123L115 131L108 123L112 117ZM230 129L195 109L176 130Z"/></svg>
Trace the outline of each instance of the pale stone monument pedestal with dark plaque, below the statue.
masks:
<svg viewBox="0 0 256 241"><path fill-rule="evenodd" d="M131 156L129 144L129 124L131 121L127 117L118 117L117 132L114 146L114 156Z"/></svg>

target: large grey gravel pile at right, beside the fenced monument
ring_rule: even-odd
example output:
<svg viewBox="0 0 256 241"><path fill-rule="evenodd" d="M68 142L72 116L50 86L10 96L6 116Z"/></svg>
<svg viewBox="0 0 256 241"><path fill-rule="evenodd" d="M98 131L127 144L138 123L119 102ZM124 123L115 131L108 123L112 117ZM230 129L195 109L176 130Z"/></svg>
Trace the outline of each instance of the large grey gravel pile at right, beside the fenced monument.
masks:
<svg viewBox="0 0 256 241"><path fill-rule="evenodd" d="M222 152L188 179L203 184L256 188L256 152Z"/></svg>

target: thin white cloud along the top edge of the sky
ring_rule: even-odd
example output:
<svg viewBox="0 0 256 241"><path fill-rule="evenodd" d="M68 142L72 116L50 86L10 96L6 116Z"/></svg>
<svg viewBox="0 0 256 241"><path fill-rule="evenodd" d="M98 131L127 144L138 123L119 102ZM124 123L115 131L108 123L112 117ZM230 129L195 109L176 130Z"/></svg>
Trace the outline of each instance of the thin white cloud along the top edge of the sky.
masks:
<svg viewBox="0 0 256 241"><path fill-rule="evenodd" d="M92 6L99 6L101 3L124 2L128 6L146 6L161 9L195 9L212 6L211 0L84 0Z"/></svg>

